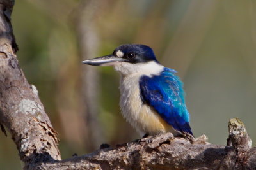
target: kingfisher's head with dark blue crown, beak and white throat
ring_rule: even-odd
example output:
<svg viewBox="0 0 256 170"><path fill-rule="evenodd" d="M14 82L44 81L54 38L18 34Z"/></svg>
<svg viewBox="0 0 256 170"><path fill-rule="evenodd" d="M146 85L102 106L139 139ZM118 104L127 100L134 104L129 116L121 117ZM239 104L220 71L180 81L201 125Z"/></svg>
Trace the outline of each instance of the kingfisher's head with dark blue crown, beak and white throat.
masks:
<svg viewBox="0 0 256 170"><path fill-rule="evenodd" d="M161 66L153 50L147 45L127 44L118 46L112 54L84 60L83 64L92 66L114 66L121 74L132 74Z"/></svg>

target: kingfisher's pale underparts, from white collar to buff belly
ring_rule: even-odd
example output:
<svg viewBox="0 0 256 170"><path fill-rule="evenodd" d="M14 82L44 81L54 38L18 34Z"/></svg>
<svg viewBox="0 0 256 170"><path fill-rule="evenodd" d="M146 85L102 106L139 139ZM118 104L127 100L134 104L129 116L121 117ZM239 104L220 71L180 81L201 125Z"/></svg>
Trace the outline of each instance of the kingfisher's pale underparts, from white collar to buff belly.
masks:
<svg viewBox="0 0 256 170"><path fill-rule="evenodd" d="M156 62L148 63L145 67L132 64L117 65L115 69L121 73L120 108L124 118L143 136L145 133L158 134L170 131L168 125L154 109L143 104L140 97L139 80L142 75L152 76L163 71L163 66ZM126 66L126 67L125 67ZM132 69L133 67L133 69Z"/></svg>

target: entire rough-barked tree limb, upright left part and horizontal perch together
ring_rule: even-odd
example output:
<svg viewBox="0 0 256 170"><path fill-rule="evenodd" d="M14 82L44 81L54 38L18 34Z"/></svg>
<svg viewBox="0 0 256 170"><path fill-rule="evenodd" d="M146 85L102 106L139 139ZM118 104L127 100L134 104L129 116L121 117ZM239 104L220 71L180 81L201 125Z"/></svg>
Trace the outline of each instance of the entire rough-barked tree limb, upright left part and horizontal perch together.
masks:
<svg viewBox="0 0 256 170"><path fill-rule="evenodd" d="M0 123L3 132L3 125L10 131L24 169L256 169L256 148L237 118L228 125L227 146L207 143L206 136L191 143L167 133L61 160L57 133L15 55L13 4L0 0Z"/></svg>

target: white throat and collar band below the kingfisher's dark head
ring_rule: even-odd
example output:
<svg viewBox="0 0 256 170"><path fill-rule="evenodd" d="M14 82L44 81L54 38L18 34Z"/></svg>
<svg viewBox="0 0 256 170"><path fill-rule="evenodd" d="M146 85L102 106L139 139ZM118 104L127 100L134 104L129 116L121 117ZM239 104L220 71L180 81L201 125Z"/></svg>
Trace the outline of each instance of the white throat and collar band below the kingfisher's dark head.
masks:
<svg viewBox="0 0 256 170"><path fill-rule="evenodd" d="M129 76L132 74L152 76L159 75L163 71L164 66L154 61L138 64L119 62L114 65L114 69L121 73L122 76Z"/></svg>

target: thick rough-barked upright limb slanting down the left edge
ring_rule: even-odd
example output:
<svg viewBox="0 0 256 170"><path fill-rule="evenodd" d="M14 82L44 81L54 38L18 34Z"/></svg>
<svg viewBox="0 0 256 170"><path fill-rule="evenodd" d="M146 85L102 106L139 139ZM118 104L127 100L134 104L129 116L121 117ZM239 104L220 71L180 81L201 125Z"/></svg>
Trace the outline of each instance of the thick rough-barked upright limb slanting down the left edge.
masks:
<svg viewBox="0 0 256 170"><path fill-rule="evenodd" d="M13 4L0 1L0 123L10 131L20 159L29 168L38 161L61 158L57 133L15 55L18 48L10 23Z"/></svg>

